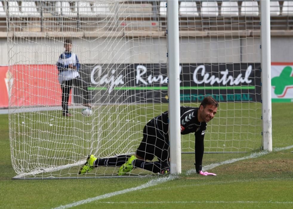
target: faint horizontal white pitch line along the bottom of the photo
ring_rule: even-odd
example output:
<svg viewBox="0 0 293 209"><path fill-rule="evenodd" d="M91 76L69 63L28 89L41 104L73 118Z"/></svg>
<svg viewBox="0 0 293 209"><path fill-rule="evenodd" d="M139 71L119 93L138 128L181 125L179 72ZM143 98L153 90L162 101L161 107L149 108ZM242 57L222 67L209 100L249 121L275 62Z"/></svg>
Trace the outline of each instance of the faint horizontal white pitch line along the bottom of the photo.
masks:
<svg viewBox="0 0 293 209"><path fill-rule="evenodd" d="M270 203L270 204L293 204L293 202L273 202L273 201L158 201L158 202L97 202L102 204L188 204L188 203L249 203L249 204L259 204L259 203Z"/></svg>

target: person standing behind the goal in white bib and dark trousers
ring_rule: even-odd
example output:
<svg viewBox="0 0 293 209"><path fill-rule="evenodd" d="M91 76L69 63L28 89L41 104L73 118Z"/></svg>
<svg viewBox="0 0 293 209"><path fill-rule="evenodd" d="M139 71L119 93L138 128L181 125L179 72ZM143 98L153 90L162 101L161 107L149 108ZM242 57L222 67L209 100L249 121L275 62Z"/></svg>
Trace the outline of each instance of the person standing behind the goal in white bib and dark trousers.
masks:
<svg viewBox="0 0 293 209"><path fill-rule="evenodd" d="M63 116L71 117L72 115L68 111L68 101L72 85L81 87L84 106L91 108L92 105L90 104L90 92L87 90L87 85L78 73L80 64L77 55L71 52L72 41L70 39L64 40L64 48L65 51L59 56L57 62L58 80L62 89Z"/></svg>

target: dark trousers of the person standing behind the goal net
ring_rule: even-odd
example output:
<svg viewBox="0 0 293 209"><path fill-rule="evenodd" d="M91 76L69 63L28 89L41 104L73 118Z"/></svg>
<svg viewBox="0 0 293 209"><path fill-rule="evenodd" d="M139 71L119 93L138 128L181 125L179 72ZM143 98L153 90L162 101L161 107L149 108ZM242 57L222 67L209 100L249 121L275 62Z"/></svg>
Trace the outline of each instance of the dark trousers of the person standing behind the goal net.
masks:
<svg viewBox="0 0 293 209"><path fill-rule="evenodd" d="M71 79L68 81L64 81L61 84L61 89L62 89L62 109L63 109L63 114L68 113L68 101L69 101L69 95L70 95L70 90L72 86L75 87L80 87L82 90L82 96L84 99L84 104L90 103L90 92L87 90L87 85L86 83L81 79L81 77L76 77L75 79Z"/></svg>

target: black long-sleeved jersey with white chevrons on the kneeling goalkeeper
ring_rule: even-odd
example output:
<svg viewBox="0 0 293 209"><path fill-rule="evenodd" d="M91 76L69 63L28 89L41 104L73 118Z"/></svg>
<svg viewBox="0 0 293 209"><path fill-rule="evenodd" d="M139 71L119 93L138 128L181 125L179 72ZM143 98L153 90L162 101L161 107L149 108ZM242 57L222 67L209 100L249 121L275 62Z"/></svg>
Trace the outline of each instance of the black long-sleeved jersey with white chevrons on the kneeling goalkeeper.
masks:
<svg viewBox="0 0 293 209"><path fill-rule="evenodd" d="M198 121L198 107L180 107L181 134L195 134L195 168L201 170L203 159L203 138L206 131L206 122ZM169 117L168 111L155 117L147 123L148 127L154 127L156 135L169 143Z"/></svg>

